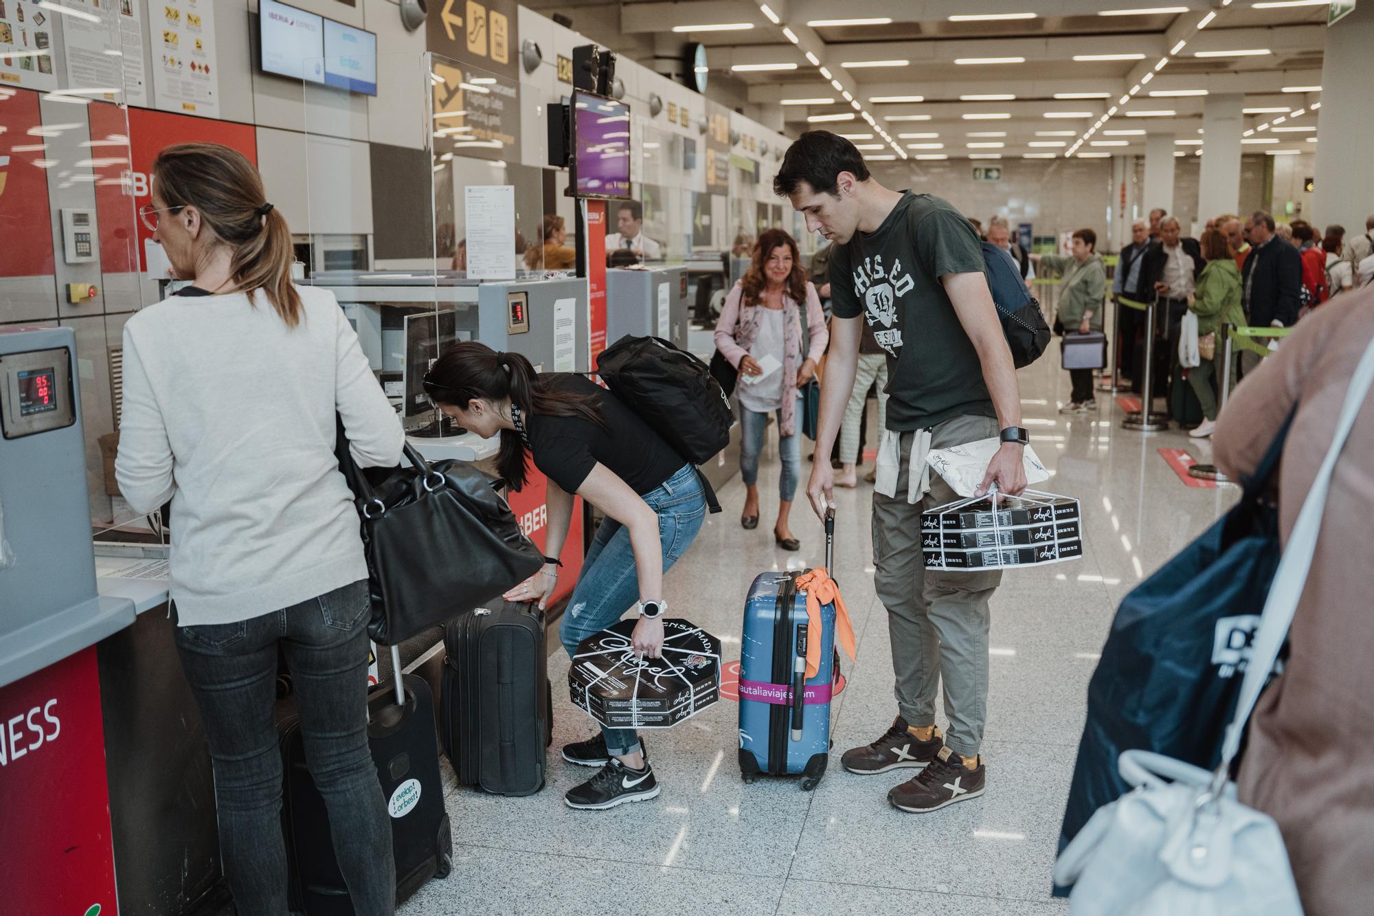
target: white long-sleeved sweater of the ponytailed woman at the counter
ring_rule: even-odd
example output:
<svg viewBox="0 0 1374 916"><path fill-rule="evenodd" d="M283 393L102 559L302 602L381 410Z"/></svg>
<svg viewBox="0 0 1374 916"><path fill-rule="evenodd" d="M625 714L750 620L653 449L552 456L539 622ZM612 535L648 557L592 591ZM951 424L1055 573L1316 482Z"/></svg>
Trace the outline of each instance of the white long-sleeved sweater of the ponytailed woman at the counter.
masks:
<svg viewBox="0 0 1374 916"><path fill-rule="evenodd" d="M181 626L236 623L367 578L335 410L364 466L404 435L326 290L289 329L258 292L173 296L124 329L115 476L135 512L172 501Z"/></svg>

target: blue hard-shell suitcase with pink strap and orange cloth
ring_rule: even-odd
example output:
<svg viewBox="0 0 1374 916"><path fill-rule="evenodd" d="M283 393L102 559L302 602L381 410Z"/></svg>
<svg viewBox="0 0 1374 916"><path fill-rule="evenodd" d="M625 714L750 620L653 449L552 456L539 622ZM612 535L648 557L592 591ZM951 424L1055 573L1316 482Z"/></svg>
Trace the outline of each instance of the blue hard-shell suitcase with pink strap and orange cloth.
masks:
<svg viewBox="0 0 1374 916"><path fill-rule="evenodd" d="M834 510L826 516L826 568L834 554ZM830 761L830 696L840 671L835 607L820 608L820 633L807 619L798 572L760 574L745 601L739 660L739 773L802 774L811 791ZM820 640L820 666L805 681L807 642ZM800 695L800 696L798 696ZM798 701L800 700L800 701Z"/></svg>

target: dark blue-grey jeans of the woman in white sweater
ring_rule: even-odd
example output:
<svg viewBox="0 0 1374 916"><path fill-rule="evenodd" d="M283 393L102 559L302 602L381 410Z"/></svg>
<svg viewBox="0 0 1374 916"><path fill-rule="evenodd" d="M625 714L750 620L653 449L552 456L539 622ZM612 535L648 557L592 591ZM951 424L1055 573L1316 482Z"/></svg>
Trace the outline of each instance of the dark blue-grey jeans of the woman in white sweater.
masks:
<svg viewBox="0 0 1374 916"><path fill-rule="evenodd" d="M396 909L392 824L367 745L367 582L239 623L177 627L214 766L220 854L240 916L286 905L278 645L286 652L311 776L357 913Z"/></svg>

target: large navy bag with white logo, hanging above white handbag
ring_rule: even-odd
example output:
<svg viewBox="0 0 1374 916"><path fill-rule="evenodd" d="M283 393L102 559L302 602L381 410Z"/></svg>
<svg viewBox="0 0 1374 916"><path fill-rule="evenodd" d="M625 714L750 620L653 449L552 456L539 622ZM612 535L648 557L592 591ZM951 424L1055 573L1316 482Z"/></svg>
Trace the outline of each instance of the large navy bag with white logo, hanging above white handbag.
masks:
<svg viewBox="0 0 1374 916"><path fill-rule="evenodd" d="M1131 788L1117 770L1121 751L1154 751L1208 770L1220 762L1279 561L1268 490L1290 424L1245 481L1241 502L1121 601L1088 682L1061 853L1094 811Z"/></svg>

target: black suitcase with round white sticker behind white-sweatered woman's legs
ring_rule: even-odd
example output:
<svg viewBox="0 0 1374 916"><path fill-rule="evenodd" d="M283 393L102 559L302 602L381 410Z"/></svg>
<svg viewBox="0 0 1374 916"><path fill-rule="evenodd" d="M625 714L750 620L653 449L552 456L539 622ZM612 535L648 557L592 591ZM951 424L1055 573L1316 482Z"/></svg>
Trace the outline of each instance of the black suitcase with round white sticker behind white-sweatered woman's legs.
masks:
<svg viewBox="0 0 1374 916"><path fill-rule="evenodd" d="M453 839L438 770L434 695L423 679L405 675L404 704L398 704L401 666L396 646L392 648L392 663L397 681L372 690L367 697L367 740L392 821L396 902L401 904L431 877L448 876L453 864ZM354 916L334 858L324 796L315 788L305 765L298 717L282 718L279 730L286 770L282 822L291 876L291 909L306 916Z"/></svg>

